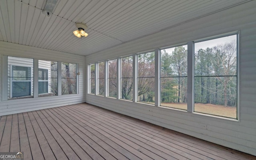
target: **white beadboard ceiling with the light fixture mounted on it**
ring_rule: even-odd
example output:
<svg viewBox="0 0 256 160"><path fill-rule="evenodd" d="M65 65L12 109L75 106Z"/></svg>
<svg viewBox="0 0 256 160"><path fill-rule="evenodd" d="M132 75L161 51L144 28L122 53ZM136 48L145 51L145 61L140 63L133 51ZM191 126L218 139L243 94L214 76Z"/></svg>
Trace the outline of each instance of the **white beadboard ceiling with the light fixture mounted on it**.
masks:
<svg viewBox="0 0 256 160"><path fill-rule="evenodd" d="M247 1L58 0L47 16L46 0L0 0L0 40L86 56Z"/></svg>

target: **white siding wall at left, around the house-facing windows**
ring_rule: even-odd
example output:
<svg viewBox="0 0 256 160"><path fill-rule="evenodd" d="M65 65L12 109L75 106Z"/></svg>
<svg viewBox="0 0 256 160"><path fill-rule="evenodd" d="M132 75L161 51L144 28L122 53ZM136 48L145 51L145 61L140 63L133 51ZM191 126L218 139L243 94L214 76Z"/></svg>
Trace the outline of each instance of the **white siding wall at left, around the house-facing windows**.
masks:
<svg viewBox="0 0 256 160"><path fill-rule="evenodd" d="M78 94L62 95L62 96L47 96L38 98L24 98L16 100L2 100L2 88L4 77L2 74L3 70L8 68L2 67L2 57L13 56L22 58L36 58L39 60L49 60L49 61L60 61L60 62L70 62L79 64L80 75L78 77ZM69 104L77 104L85 101L84 94L84 64L85 57L78 56L75 54L69 54L65 52L57 52L52 50L46 50L42 48L35 48L30 46L24 46L20 44L13 44L8 42L0 41L0 116L6 114L13 114L19 112L26 112L31 110L39 110L43 108L51 108L57 106L64 106ZM40 68L40 67L39 67ZM5 77L6 78L6 77ZM7 94L7 91L6 91Z"/></svg>

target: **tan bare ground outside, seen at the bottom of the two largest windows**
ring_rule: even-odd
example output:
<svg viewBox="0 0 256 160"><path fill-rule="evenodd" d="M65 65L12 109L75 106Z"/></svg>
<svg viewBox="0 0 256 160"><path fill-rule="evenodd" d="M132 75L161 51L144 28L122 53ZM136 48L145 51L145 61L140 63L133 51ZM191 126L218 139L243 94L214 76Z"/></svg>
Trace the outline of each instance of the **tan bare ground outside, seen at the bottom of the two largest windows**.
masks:
<svg viewBox="0 0 256 160"><path fill-rule="evenodd" d="M186 103L161 103L161 106L187 110ZM194 111L200 112L200 113L212 114L216 116L236 118L236 107L229 107L229 106L225 107L222 105L215 105L215 104L196 103Z"/></svg>

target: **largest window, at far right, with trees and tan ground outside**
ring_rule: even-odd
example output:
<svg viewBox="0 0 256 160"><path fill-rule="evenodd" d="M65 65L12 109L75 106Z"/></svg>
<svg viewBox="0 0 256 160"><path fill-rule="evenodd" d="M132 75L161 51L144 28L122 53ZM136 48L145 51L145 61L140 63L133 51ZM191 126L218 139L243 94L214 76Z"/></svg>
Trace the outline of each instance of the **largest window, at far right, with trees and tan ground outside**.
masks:
<svg viewBox="0 0 256 160"><path fill-rule="evenodd" d="M194 46L195 112L237 118L237 35Z"/></svg>

